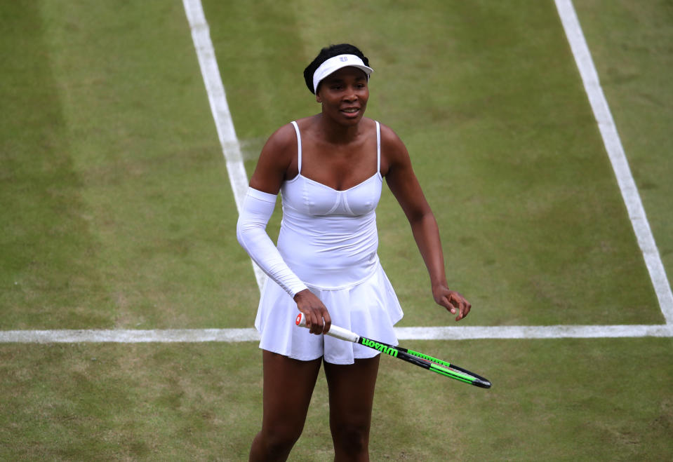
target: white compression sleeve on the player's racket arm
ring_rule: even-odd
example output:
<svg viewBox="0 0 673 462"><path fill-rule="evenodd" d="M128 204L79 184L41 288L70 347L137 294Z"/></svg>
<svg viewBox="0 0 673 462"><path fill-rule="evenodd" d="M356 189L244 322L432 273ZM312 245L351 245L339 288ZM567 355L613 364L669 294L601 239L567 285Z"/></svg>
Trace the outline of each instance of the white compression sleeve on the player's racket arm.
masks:
<svg viewBox="0 0 673 462"><path fill-rule="evenodd" d="M262 271L283 287L290 297L294 297L307 287L285 263L267 234L267 223L275 206L276 194L248 187L243 210L236 224L236 238Z"/></svg>

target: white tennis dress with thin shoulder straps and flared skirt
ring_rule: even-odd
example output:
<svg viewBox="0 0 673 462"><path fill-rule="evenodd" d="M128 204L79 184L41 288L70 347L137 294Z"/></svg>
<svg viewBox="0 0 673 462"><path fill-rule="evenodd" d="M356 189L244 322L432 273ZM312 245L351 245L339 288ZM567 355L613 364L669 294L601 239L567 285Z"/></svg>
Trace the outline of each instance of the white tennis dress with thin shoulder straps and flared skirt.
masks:
<svg viewBox="0 0 673 462"><path fill-rule="evenodd" d="M381 196L380 125L376 122L376 173L345 191L302 176L302 144L297 133L298 170L281 187L283 219L277 247L292 271L327 307L334 325L397 345L393 325L402 309L380 265L375 208ZM371 348L296 327L297 304L273 280L262 289L255 327L260 348L298 360L324 356L333 364L372 358Z"/></svg>

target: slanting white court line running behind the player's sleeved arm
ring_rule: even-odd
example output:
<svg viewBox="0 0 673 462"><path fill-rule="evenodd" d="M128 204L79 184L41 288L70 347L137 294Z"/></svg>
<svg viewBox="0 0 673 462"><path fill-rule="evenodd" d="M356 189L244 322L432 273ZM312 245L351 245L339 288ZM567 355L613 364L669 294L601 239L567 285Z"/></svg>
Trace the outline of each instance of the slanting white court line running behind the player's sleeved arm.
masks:
<svg viewBox="0 0 673 462"><path fill-rule="evenodd" d="M182 4L185 6L189 28L192 30L192 41L194 41L196 56L199 58L201 75L204 76L208 102L211 104L211 112L213 113L215 128L218 130L222 154L224 154L227 162L227 172L232 191L234 191L236 209L240 213L248 189L248 175L243 164L243 156L241 156L241 145L236 137L236 130L234 130L232 113L229 111L229 104L227 104L225 86L222 85L218 60L215 58L215 48L213 48L213 41L211 41L210 28L206 22L201 0L183 0ZM254 261L251 260L251 264L253 265L257 285L261 290L266 275Z"/></svg>

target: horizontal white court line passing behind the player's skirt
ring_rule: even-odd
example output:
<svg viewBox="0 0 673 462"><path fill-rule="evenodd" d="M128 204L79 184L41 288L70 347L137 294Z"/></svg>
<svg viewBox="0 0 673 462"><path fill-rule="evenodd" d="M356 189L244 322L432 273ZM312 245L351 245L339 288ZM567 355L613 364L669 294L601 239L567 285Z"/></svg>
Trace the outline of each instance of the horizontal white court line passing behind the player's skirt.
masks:
<svg viewBox="0 0 673 462"><path fill-rule="evenodd" d="M473 339L599 339L633 337L673 337L673 325L555 325L494 327L395 327L400 340ZM255 329L164 329L164 330L7 330L0 332L0 344L53 343L195 343L218 341L235 343L259 341Z"/></svg>

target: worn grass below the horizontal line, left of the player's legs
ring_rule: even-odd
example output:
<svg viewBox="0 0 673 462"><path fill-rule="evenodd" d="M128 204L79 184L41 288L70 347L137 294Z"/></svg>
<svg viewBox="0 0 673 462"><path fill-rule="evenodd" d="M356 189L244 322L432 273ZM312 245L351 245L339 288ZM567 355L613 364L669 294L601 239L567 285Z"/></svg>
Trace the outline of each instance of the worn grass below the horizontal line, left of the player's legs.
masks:
<svg viewBox="0 0 673 462"><path fill-rule="evenodd" d="M240 460L258 426L257 355L251 343L3 346L0 458Z"/></svg>

